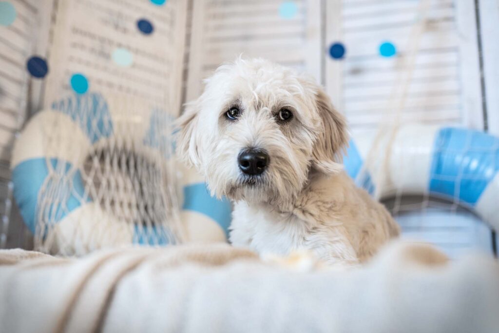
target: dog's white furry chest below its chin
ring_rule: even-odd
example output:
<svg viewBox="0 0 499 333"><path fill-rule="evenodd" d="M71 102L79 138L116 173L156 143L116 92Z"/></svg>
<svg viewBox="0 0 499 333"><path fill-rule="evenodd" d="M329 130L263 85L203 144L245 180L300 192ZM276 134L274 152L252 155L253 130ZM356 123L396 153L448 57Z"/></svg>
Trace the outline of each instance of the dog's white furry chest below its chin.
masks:
<svg viewBox="0 0 499 333"><path fill-rule="evenodd" d="M258 252L288 254L304 247L309 235L307 223L292 214L280 213L265 206L235 204L231 243L250 246Z"/></svg>

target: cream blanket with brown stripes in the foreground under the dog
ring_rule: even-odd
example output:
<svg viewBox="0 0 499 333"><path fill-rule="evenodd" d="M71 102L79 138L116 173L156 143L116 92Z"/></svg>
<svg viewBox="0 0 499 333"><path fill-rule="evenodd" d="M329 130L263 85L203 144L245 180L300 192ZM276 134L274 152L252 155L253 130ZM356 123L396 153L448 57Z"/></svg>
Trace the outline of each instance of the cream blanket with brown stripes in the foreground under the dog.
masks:
<svg viewBox="0 0 499 333"><path fill-rule="evenodd" d="M493 258L398 241L363 267L298 262L223 244L4 250L0 332L499 332Z"/></svg>

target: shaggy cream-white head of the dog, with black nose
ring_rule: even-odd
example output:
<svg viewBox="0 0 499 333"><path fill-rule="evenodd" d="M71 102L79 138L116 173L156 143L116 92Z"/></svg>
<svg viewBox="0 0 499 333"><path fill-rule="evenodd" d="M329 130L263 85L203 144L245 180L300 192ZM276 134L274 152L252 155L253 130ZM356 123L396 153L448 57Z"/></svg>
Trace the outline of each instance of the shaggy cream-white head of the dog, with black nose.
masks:
<svg viewBox="0 0 499 333"><path fill-rule="evenodd" d="M345 120L313 80L262 59L220 66L179 118L178 150L212 195L292 202L310 172L341 170Z"/></svg>

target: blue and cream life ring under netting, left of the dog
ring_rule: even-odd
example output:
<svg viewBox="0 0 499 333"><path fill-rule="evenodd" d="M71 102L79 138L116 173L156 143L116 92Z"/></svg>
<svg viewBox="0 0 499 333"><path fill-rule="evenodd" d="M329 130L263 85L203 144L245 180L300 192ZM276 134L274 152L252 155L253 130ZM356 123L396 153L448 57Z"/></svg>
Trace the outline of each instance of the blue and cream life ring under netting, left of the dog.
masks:
<svg viewBox="0 0 499 333"><path fill-rule="evenodd" d="M65 195L50 207L50 220L55 221L56 237L73 239L78 229L79 238L73 241L70 252L81 254L104 246L151 244L137 228L130 229L92 202L85 194L79 170L93 148L118 135L134 136L134 142L143 143L138 147L141 153L157 154L154 150L162 143L157 141L157 133L151 132L158 128L155 115L154 110L149 111L139 117L145 121L139 121L133 133L120 133L122 120L98 93L75 94L34 115L15 142L11 163L14 198L28 228L35 232L40 190L51 181L49 169L58 168L58 172L71 172L73 176L71 182L60 185L59 190ZM48 134L51 140L47 140ZM187 228L187 241L225 241L231 204L210 197L205 183L192 171L179 171L183 173L179 202L183 202L181 218ZM167 243L166 231L154 232L154 244Z"/></svg>

